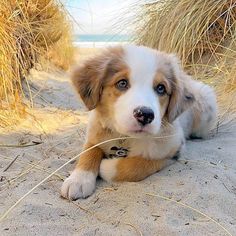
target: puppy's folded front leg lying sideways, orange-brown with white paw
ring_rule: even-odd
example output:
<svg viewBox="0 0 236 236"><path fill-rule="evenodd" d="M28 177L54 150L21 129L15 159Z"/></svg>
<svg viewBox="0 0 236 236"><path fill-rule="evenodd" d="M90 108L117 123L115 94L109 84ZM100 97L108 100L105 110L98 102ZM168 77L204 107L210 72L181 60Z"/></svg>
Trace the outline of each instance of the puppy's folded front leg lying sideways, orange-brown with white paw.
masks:
<svg viewBox="0 0 236 236"><path fill-rule="evenodd" d="M136 182L164 168L170 160L148 160L142 157L103 159L99 175L108 182Z"/></svg>

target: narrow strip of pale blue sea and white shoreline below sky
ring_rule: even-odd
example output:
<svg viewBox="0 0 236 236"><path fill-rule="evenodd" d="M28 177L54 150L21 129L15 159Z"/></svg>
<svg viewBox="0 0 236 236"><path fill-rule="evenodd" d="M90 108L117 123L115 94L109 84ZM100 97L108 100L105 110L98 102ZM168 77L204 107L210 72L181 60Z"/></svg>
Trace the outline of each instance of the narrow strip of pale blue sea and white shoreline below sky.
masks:
<svg viewBox="0 0 236 236"><path fill-rule="evenodd" d="M73 43L76 47L104 47L126 44L131 41L131 38L131 35L124 34L76 34Z"/></svg>

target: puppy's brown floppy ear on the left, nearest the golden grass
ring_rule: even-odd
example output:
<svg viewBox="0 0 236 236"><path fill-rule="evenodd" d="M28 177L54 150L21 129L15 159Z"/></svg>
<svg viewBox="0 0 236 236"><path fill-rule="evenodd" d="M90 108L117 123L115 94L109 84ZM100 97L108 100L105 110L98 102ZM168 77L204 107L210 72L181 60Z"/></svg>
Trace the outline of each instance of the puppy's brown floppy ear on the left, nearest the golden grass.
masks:
<svg viewBox="0 0 236 236"><path fill-rule="evenodd" d="M94 109L99 102L108 62L106 55L98 55L72 73L72 82L88 110Z"/></svg>

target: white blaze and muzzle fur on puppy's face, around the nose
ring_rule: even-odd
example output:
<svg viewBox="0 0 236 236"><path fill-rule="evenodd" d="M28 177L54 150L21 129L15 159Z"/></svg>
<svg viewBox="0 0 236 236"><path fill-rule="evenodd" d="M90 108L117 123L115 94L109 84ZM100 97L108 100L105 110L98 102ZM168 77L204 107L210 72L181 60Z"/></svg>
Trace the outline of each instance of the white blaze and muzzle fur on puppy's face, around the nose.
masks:
<svg viewBox="0 0 236 236"><path fill-rule="evenodd" d="M124 61L129 68L130 89L115 103L116 129L128 134L140 128L133 117L137 107L148 107L154 112L154 120L144 131L155 135L161 126L160 104L153 89L153 81L158 69L158 52L134 45L124 46ZM125 109L124 109L125 107Z"/></svg>

